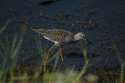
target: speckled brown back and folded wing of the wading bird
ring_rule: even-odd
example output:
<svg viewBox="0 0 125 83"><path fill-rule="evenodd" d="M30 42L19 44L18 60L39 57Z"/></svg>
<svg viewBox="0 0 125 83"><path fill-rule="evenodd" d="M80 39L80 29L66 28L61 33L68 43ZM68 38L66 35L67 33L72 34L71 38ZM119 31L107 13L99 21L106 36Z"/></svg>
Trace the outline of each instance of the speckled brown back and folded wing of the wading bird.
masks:
<svg viewBox="0 0 125 83"><path fill-rule="evenodd" d="M53 41L67 42L73 40L74 36L71 32L62 29L33 29L35 32L49 38Z"/></svg>

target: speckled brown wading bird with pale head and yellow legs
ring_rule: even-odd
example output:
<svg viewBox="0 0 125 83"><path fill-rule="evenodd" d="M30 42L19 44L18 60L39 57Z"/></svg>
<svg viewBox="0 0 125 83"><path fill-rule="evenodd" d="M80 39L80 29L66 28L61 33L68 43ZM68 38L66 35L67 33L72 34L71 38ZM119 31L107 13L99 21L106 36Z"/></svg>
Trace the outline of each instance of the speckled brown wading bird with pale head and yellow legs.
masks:
<svg viewBox="0 0 125 83"><path fill-rule="evenodd" d="M85 38L85 34L83 32L78 32L73 34L69 31L63 29L33 29L33 31L42 35L45 39L54 42L55 44L49 49L48 53L50 53L51 49L55 46L59 46L62 42L69 42L69 41L77 41L77 40L87 40ZM88 40L87 40L88 41ZM60 50L62 53L62 50ZM48 56L47 56L48 57ZM63 56L61 55L61 59L63 62Z"/></svg>

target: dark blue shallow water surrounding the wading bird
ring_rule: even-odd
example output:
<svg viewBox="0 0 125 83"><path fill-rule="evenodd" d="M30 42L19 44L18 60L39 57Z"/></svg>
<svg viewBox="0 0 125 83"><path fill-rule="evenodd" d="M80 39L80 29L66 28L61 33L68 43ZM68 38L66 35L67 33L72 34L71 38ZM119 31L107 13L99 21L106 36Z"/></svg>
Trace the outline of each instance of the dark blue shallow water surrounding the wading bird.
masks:
<svg viewBox="0 0 125 83"><path fill-rule="evenodd" d="M118 41L118 49L124 55L125 48L125 1L124 0L61 0L48 6L40 6L38 3L41 0L0 0L0 24L10 19L7 32L9 35L17 32L20 28L20 22L24 17L29 19L29 27L25 36L21 55L23 52L28 52L27 56L34 55L35 37L37 36L31 29L34 26L43 26L47 28L60 28L77 33L85 32L87 37L94 45L87 46L88 56L94 56L91 60L91 66L98 67L104 64L109 66L117 65L117 57L112 53L112 40ZM84 21L88 11L92 12L90 19L97 22L95 27L77 27L73 26L77 21ZM63 13L72 14L67 19L62 19L60 16ZM42 21L40 15L47 15L46 21ZM110 40L111 39L111 40ZM50 47L53 43L48 40L41 39L43 47ZM79 43L69 45L65 49L74 49L79 47ZM78 49L78 48L77 48ZM76 49L75 52L65 53L65 66L76 66L81 69L84 64L82 52ZM74 55L74 54L76 55ZM73 55L73 56L72 56ZM71 56L71 57L70 57ZM22 56L20 56L22 57ZM39 56L38 56L39 57ZM96 62L93 61L96 59ZM29 64L37 63L40 59L36 57L33 61L27 61ZM19 60L22 62L22 60ZM78 66L78 67L77 67Z"/></svg>

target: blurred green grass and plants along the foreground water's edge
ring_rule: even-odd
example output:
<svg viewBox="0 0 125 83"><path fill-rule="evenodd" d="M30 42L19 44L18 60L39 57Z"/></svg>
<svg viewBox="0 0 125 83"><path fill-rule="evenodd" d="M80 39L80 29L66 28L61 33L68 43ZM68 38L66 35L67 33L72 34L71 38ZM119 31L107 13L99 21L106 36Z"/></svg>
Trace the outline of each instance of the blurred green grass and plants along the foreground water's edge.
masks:
<svg viewBox="0 0 125 83"><path fill-rule="evenodd" d="M40 55L42 60L37 64L27 65L23 63L23 65L17 66L17 58L27 31L27 20L27 18L23 20L20 32L15 33L11 40L8 38L8 35L5 36L5 40L2 40L0 37L0 58L2 58L0 65L0 83L124 83L124 62L115 44L113 45L120 62L117 70L105 65L100 69L93 69L92 72L89 72L90 59L87 56L88 53L85 48L82 49L84 66L80 71L75 71L74 68L67 68L65 66L59 67L59 51L53 53L53 56L46 63L45 55L47 53L41 45L40 36L36 36L35 45L36 53ZM5 23L5 27L1 27L0 34L6 31L7 25L8 21ZM34 56L37 54L34 54ZM54 65L49 65L52 60L55 60Z"/></svg>

